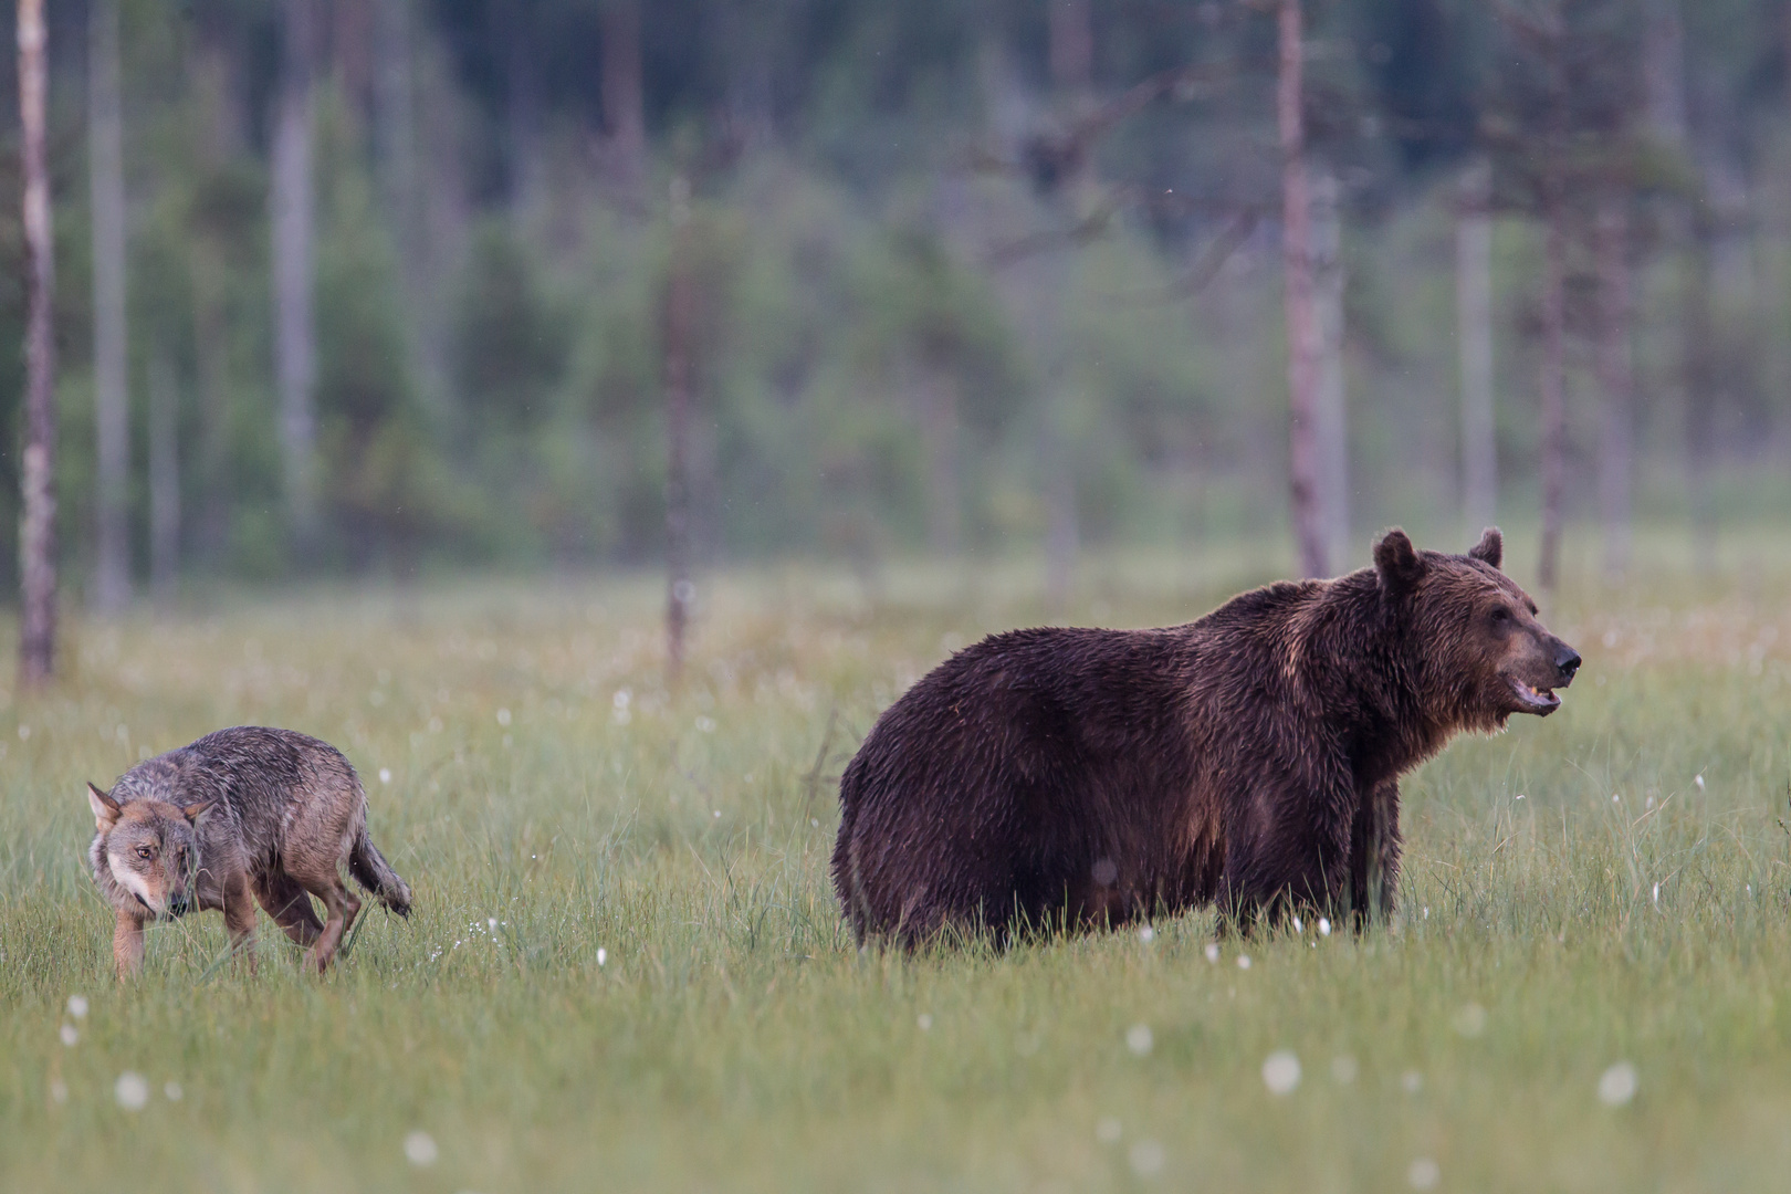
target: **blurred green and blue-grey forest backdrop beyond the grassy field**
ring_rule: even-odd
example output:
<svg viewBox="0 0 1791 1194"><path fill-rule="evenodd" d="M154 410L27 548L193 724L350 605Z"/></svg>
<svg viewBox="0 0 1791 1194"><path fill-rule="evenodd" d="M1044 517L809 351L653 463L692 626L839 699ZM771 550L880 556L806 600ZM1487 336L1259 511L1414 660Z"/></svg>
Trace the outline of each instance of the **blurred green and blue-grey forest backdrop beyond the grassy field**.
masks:
<svg viewBox="0 0 1791 1194"><path fill-rule="evenodd" d="M63 576L1286 541L1288 7L50 4ZM1791 5L1293 7L1307 571L1782 521Z"/></svg>

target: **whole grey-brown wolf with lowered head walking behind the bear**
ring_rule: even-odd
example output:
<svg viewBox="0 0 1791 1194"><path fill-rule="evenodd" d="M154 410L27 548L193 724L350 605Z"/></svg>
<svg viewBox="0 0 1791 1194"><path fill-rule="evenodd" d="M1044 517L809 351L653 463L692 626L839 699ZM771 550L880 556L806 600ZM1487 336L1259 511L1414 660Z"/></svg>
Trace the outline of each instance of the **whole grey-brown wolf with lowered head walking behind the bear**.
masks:
<svg viewBox="0 0 1791 1194"><path fill-rule="evenodd" d="M322 972L360 913L344 868L410 915L410 888L367 840L367 793L330 743L240 725L140 763L109 793L88 788L99 829L88 859L118 915L120 974L141 963L145 920L192 908L222 909L233 942L253 951L251 895Z"/></svg>

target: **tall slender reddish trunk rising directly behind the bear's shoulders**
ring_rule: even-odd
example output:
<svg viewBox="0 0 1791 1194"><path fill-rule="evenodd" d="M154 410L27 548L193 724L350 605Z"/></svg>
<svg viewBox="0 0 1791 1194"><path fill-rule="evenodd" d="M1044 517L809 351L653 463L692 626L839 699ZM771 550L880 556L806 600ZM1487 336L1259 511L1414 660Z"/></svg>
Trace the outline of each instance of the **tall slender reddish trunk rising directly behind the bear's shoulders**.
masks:
<svg viewBox="0 0 1791 1194"><path fill-rule="evenodd" d="M1288 324L1288 465L1293 489L1293 533L1306 576L1329 576L1325 525L1318 508L1318 354L1313 310L1311 208L1306 188L1306 120L1300 111L1304 50L1300 0L1281 0L1281 77L1275 116L1281 125L1281 261Z"/></svg>

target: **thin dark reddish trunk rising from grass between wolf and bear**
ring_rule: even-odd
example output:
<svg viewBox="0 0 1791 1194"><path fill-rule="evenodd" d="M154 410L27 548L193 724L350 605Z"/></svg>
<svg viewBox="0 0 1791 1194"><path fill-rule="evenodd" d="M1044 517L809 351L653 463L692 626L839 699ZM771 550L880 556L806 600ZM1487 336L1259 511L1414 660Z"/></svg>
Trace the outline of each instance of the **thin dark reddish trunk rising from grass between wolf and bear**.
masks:
<svg viewBox="0 0 1791 1194"><path fill-rule="evenodd" d="M690 580L690 401L697 281L690 261L690 181L672 179L672 265L666 277L666 684L684 671Z"/></svg>

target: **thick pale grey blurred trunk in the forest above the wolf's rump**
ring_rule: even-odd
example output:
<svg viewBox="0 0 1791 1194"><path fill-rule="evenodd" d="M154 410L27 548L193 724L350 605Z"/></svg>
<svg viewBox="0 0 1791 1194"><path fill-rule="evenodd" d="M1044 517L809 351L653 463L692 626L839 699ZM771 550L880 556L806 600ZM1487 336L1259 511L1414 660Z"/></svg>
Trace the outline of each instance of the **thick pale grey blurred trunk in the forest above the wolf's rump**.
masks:
<svg viewBox="0 0 1791 1194"><path fill-rule="evenodd" d="M285 0L279 90L274 100L274 371L279 385L279 439L287 480L287 523L301 559L317 548L317 331L312 311L315 199L312 136L315 102L313 0Z"/></svg>

